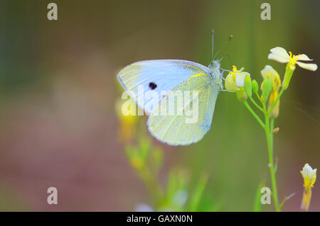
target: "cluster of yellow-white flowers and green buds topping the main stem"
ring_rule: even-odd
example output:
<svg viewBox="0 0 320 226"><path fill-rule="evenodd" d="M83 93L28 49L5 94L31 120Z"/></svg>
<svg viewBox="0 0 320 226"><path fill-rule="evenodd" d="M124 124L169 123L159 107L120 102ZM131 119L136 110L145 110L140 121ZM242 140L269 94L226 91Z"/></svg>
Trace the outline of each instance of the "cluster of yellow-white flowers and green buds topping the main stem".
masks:
<svg viewBox="0 0 320 226"><path fill-rule="evenodd" d="M255 80L251 81L250 74L248 72L242 72L242 69L238 71L235 66L233 66L233 72L229 72L225 78L225 89L230 92L236 92L240 101L245 101L248 97L251 99L252 91L254 91L262 101L262 104L264 102L267 103L267 111L270 113L270 116L277 118L280 106L279 97L282 92L288 88L292 74L296 68L295 65L298 64L299 67L311 71L316 71L318 66L316 64L301 62L311 61L307 55L292 55L292 52L288 53L282 47L272 48L268 59L287 63L287 67L283 81L281 81L278 72L270 65L266 65L265 68L261 70L263 78L261 84L262 96L258 94L257 82Z"/></svg>

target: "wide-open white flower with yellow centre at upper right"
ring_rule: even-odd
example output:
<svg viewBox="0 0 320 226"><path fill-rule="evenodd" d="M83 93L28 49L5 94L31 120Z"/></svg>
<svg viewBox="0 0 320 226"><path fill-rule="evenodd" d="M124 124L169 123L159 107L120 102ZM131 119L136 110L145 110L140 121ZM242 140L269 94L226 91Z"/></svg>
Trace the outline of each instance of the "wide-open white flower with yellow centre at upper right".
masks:
<svg viewBox="0 0 320 226"><path fill-rule="evenodd" d="M297 63L300 67L310 71L316 71L316 69L318 69L318 65L316 64L307 64L298 61L311 61L311 59L305 54L299 54L297 56L292 55L292 52L289 52L288 54L287 50L284 50L282 47L274 47L270 52L271 53L268 55L269 60L275 60L280 63L289 63L292 67Z"/></svg>

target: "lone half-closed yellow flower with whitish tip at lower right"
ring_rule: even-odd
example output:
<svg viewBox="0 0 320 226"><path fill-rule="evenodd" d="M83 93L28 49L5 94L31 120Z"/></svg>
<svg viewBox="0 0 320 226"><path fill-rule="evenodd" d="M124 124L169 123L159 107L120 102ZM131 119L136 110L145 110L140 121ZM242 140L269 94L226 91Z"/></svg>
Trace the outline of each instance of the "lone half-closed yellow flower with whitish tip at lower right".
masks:
<svg viewBox="0 0 320 226"><path fill-rule="evenodd" d="M316 169L312 169L309 164L305 164L302 171L300 171L304 178L304 195L302 197L302 210L306 211L309 209L311 200L311 188L314 187L316 182Z"/></svg>

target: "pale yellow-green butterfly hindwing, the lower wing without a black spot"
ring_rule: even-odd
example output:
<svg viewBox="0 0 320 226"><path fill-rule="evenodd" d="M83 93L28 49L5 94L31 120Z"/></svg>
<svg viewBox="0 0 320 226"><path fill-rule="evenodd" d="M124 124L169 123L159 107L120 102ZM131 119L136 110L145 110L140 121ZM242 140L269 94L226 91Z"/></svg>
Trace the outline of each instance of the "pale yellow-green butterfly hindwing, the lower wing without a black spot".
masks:
<svg viewBox="0 0 320 226"><path fill-rule="evenodd" d="M169 145L190 145L191 143L198 142L210 130L210 125L213 118L215 109L215 101L218 96L220 86L214 84L212 77L209 75L202 75L193 77L184 81L179 86L176 86L169 94L162 98L159 105L154 112L149 116L148 128L154 137L161 142L166 142ZM181 103L176 101L174 103L174 115L169 115L169 108L172 104L172 96L176 95L176 91L191 91L191 104ZM198 109L190 114L190 110L196 106L196 97L193 96L192 91L198 91ZM193 98L192 98L193 97ZM185 101L183 101L185 102ZM166 114L161 115L161 109L166 109ZM178 111L183 110L182 115L177 115ZM186 115L189 111L189 115ZM196 115L198 116L196 117ZM196 118L196 121L192 123ZM187 123L186 120L189 119ZM190 123L191 122L191 123Z"/></svg>

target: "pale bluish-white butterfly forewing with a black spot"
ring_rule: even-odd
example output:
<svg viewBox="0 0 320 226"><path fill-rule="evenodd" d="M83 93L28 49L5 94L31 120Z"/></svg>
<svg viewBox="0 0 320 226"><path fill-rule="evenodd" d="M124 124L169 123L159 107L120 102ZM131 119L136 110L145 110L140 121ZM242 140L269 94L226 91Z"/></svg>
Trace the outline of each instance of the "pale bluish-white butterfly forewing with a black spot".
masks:
<svg viewBox="0 0 320 226"><path fill-rule="evenodd" d="M140 99L141 95L152 90L161 96L161 91L171 91L197 74L209 73L208 67L187 60L145 60L124 67L117 77L138 106L151 114L154 111L154 105L149 104L151 98Z"/></svg>

